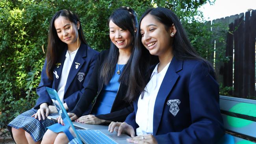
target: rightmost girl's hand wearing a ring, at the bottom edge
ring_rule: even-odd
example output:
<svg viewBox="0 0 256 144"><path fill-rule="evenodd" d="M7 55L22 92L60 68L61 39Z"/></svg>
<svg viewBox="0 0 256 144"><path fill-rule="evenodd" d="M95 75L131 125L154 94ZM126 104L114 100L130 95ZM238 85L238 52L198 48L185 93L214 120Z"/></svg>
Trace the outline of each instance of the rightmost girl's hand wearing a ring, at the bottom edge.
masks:
<svg viewBox="0 0 256 144"><path fill-rule="evenodd" d="M128 138L127 141L134 144L157 144L156 138L151 134Z"/></svg>

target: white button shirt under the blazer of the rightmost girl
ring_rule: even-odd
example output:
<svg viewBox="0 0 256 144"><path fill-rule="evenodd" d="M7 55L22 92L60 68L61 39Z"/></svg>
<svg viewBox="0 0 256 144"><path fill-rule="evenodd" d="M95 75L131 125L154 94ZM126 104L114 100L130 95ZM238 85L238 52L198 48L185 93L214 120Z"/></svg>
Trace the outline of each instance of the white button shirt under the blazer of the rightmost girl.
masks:
<svg viewBox="0 0 256 144"><path fill-rule="evenodd" d="M153 133L153 115L156 96L170 63L168 63L160 73L158 73L159 63L156 65L151 74L150 81L144 89L145 93L143 99L141 99L141 95L139 96L138 109L135 119L136 123L139 125L139 127L136 129L137 135Z"/></svg>

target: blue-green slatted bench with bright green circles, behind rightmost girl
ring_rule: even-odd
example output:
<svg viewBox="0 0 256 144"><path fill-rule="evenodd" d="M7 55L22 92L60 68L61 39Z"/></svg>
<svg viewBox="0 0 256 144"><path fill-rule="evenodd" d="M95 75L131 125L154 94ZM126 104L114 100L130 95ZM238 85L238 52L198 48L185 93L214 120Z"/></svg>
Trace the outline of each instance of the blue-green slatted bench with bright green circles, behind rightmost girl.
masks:
<svg viewBox="0 0 256 144"><path fill-rule="evenodd" d="M256 100L220 96L219 103L225 130L256 140ZM226 134L218 144L256 143Z"/></svg>

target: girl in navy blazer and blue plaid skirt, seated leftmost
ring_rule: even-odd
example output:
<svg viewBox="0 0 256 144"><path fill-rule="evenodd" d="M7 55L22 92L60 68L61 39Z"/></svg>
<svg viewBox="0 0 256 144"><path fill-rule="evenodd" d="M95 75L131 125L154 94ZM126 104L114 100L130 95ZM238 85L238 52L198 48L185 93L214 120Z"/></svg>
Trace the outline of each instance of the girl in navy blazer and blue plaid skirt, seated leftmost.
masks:
<svg viewBox="0 0 256 144"><path fill-rule="evenodd" d="M46 118L58 114L46 87L56 89L65 109L74 109L91 77L97 55L87 45L80 20L74 13L61 10L52 17L46 61L37 87L39 98L33 109L8 124L17 144L40 143L46 127L55 123Z"/></svg>

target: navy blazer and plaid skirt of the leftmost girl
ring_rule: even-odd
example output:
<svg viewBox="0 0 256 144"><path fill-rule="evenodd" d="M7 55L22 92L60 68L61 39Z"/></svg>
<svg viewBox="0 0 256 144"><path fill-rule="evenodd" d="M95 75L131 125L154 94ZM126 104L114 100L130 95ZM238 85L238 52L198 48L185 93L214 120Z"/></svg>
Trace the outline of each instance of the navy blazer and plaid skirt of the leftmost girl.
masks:
<svg viewBox="0 0 256 144"><path fill-rule="evenodd" d="M37 94L39 98L35 104L35 107L29 111L26 111L19 116L17 116L13 121L8 124L8 129L11 133L11 127L16 129L22 128L32 136L35 142L41 140L43 135L46 132L46 127L55 124L52 120L38 120L34 117L31 117L34 113L37 112L37 109L40 108L42 103L47 103L47 105L53 105L46 87L51 87L53 89L60 89L58 86L61 81L61 73L63 72L63 64L66 59L67 47L63 48L61 56L54 66L54 75L53 80L48 79L46 75L46 61L41 73L41 82L37 87ZM75 54L74 60L69 67L70 70L67 76L67 82L64 84L63 89L63 103L67 103L69 110L74 109L79 98L82 96L85 87L87 86L91 74L93 72L94 65L96 63L98 52L93 50L87 44L81 43L78 51ZM49 114L57 115L57 114ZM11 133L12 136L12 133Z"/></svg>

